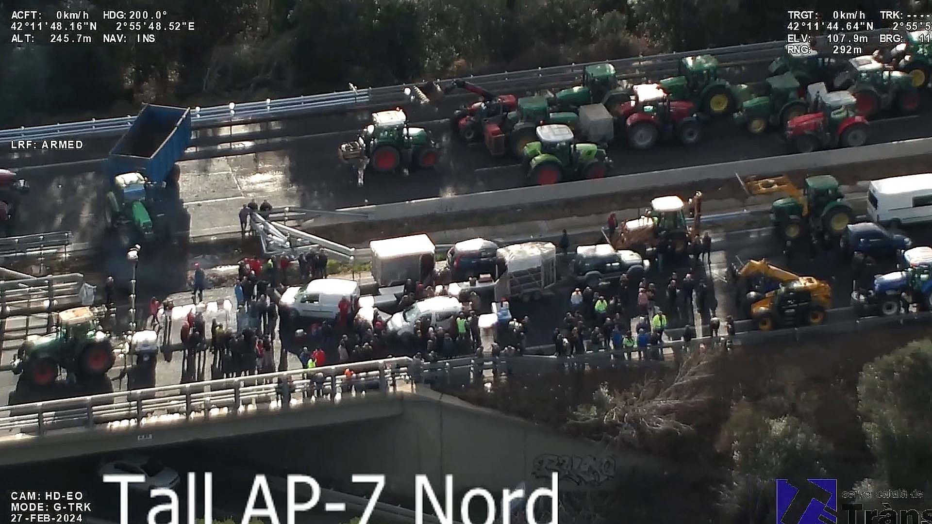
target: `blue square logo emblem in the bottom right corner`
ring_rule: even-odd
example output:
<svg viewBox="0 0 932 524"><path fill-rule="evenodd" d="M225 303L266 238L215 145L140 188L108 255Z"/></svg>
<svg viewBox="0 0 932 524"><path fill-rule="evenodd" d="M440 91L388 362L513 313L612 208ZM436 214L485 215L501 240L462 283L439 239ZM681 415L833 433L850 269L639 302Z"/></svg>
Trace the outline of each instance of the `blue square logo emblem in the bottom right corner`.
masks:
<svg viewBox="0 0 932 524"><path fill-rule="evenodd" d="M776 524L838 524L838 480L810 478L796 486L777 478Z"/></svg>

